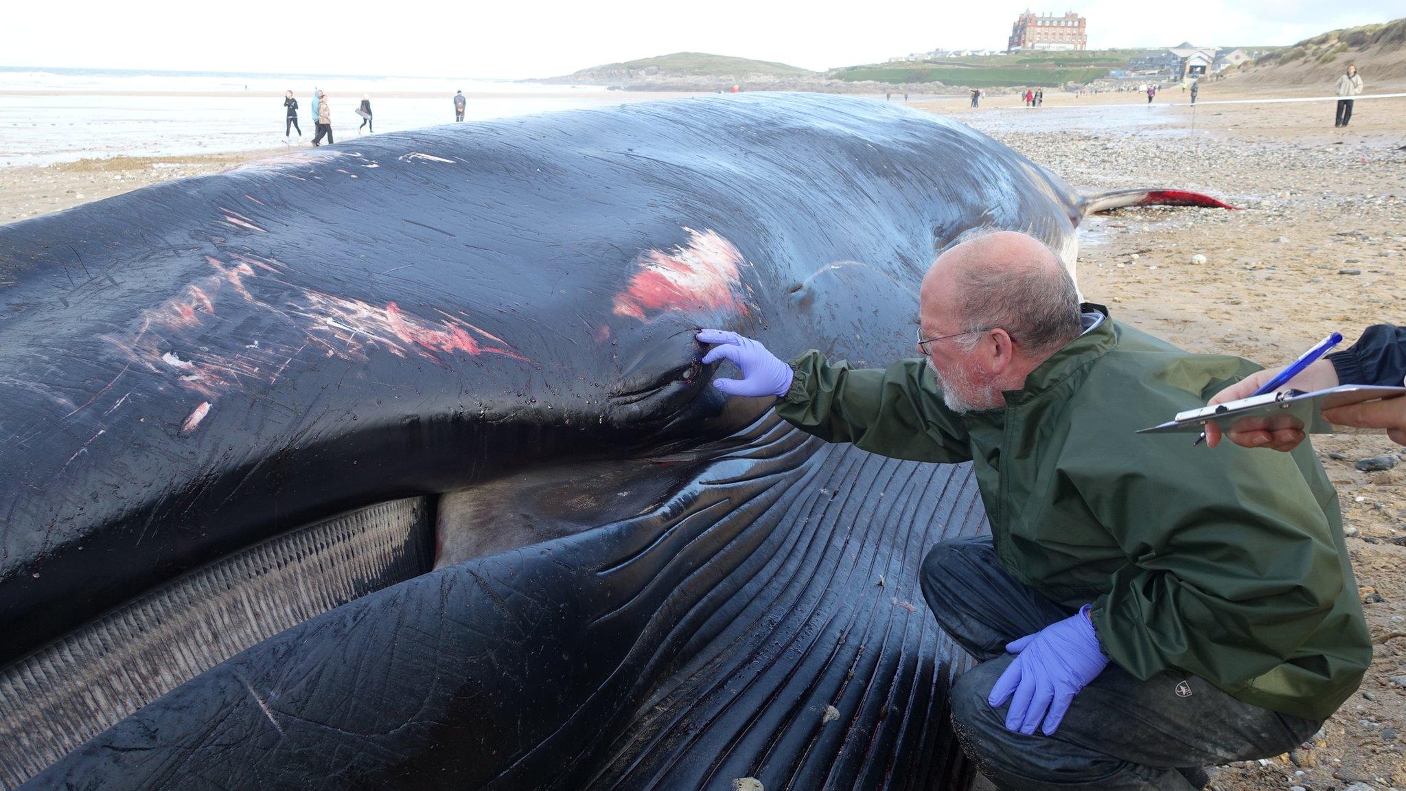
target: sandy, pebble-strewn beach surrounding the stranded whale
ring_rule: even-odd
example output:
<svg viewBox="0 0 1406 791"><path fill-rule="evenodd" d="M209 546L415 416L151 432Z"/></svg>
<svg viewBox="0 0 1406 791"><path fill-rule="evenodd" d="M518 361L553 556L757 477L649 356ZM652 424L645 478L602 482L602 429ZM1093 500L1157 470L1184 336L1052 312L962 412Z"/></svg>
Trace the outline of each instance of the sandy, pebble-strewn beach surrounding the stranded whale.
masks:
<svg viewBox="0 0 1406 791"><path fill-rule="evenodd" d="M1334 329L1351 341L1365 325L1406 321L1406 99L1358 101L1346 129L1333 128L1327 101L1212 104L1294 94L1315 96L1250 94L1226 80L1208 83L1195 108L1180 89L1153 107L1132 93L1056 91L1033 110L1014 94L979 110L914 107L970 124L1085 191L1185 187L1241 207L1091 218L1078 279L1088 300L1182 348L1272 366ZM0 167L0 224L285 152ZM1206 263L1191 262L1198 253ZM1406 460L1406 449L1360 434L1315 438L1315 448L1339 487L1376 654L1319 738L1279 759L1216 770L1222 791L1406 787L1406 463L1354 467L1381 455Z"/></svg>

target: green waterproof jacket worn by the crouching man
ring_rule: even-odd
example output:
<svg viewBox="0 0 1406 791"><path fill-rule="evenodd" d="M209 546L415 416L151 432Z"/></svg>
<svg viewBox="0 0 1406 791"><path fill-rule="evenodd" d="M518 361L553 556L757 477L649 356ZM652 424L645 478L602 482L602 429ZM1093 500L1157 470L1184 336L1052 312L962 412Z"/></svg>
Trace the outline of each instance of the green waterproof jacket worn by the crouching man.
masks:
<svg viewBox="0 0 1406 791"><path fill-rule="evenodd" d="M1104 650L1137 678L1194 673L1309 719L1357 690L1372 643L1309 443L1211 450L1135 434L1257 366L1105 318L1004 408L965 415L921 359L859 370L811 350L792 367L776 411L797 428L898 459L970 459L1001 566L1053 601L1092 602Z"/></svg>

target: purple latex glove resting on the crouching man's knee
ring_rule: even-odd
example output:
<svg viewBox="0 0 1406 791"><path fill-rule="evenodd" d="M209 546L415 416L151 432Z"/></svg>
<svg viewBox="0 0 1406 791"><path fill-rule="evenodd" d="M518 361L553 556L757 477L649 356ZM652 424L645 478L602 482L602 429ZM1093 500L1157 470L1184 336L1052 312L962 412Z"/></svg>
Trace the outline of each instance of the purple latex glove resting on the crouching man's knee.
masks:
<svg viewBox="0 0 1406 791"><path fill-rule="evenodd" d="M1074 695L1108 667L1087 604L1063 621L1007 643L1005 650L1019 656L995 680L987 702L998 707L1010 700L1005 728L1026 736L1042 719L1040 730L1053 733Z"/></svg>

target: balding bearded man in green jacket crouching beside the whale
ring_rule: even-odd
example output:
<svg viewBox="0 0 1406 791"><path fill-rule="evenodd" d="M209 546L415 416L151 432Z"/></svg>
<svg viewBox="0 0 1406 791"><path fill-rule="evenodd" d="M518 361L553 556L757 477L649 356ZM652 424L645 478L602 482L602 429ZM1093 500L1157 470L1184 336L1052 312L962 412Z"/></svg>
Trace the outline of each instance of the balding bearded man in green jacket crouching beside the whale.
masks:
<svg viewBox="0 0 1406 791"><path fill-rule="evenodd" d="M783 363L704 329L724 393L830 442L972 462L991 525L921 584L977 664L952 688L967 754L1011 790L1202 788L1282 754L1353 694L1371 640L1337 495L1312 449L1225 456L1137 435L1256 370L1080 304L1059 258L981 232L922 280L920 357ZM1219 452L1218 452L1219 453Z"/></svg>

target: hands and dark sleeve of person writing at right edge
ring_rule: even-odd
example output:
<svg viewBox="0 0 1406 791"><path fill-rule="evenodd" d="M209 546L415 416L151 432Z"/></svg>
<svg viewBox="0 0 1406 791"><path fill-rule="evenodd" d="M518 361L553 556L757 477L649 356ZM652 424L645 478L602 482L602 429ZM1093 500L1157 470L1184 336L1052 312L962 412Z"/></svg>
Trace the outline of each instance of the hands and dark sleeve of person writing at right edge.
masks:
<svg viewBox="0 0 1406 791"><path fill-rule="evenodd" d="M1225 388L1211 398L1212 404L1247 398L1256 388L1278 372L1264 370L1239 384ZM1334 352L1303 369L1284 388L1324 390L1339 384L1372 384L1379 387L1406 387L1406 327L1375 324L1362 331L1362 336L1341 352ZM1336 410L1323 410L1323 419L1336 425L1357 428L1385 428L1386 436L1398 445L1406 445L1406 398L1391 398L1371 404L1353 404ZM1222 432L1215 424L1206 424L1206 443L1212 448L1220 442ZM1232 431L1226 432L1232 442L1244 448L1271 448L1292 450L1303 442L1303 432L1294 428L1279 431Z"/></svg>

